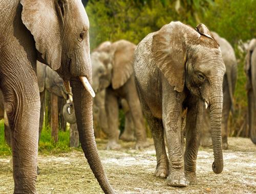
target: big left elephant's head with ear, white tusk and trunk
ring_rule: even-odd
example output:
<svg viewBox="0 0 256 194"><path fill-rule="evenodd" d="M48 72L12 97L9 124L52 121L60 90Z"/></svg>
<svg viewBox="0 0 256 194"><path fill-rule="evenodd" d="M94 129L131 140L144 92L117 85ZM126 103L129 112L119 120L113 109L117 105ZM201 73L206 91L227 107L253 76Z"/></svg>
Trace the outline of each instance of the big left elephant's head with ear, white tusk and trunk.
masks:
<svg viewBox="0 0 256 194"><path fill-rule="evenodd" d="M102 167L93 131L94 91L90 60L89 19L80 0L20 0L22 21L34 37L40 62L70 81L84 155L105 193L113 193ZM84 89L84 87L86 89Z"/></svg>

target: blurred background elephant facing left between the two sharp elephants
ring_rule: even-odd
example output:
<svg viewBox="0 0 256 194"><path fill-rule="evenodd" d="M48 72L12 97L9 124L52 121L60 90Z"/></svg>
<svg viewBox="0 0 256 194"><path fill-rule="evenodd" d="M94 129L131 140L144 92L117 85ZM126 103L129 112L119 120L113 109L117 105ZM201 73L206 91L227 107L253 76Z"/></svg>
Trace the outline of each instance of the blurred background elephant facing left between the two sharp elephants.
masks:
<svg viewBox="0 0 256 194"><path fill-rule="evenodd" d="M119 149L118 100L125 99L129 105L136 135L136 149L148 146L143 114L135 87L133 59L136 45L119 40L100 44L91 54L93 88L97 92L105 89L106 129L109 142L107 149Z"/></svg>

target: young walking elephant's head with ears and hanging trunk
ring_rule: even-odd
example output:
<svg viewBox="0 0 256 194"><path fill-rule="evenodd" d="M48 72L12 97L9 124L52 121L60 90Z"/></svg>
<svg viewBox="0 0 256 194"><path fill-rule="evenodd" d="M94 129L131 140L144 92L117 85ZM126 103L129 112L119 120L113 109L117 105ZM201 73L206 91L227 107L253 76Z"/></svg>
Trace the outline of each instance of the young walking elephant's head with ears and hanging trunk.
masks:
<svg viewBox="0 0 256 194"><path fill-rule="evenodd" d="M178 92L197 96L210 109L211 137L215 161L212 170L223 170L221 116L222 81L225 65L219 44L209 30L194 30L181 22L170 22L153 35L152 55L168 83Z"/></svg>

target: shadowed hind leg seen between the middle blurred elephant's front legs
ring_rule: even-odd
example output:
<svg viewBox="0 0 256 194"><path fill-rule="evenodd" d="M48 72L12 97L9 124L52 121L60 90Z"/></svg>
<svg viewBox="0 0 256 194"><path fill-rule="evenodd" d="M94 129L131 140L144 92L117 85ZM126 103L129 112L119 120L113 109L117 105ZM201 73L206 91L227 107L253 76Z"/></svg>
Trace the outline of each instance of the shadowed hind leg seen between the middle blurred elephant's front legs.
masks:
<svg viewBox="0 0 256 194"><path fill-rule="evenodd" d="M125 123L124 123L124 131L120 136L120 139L124 141L134 141L134 124L133 124L133 117L130 111L129 105L127 102L122 99L121 100L122 108L125 114Z"/></svg>

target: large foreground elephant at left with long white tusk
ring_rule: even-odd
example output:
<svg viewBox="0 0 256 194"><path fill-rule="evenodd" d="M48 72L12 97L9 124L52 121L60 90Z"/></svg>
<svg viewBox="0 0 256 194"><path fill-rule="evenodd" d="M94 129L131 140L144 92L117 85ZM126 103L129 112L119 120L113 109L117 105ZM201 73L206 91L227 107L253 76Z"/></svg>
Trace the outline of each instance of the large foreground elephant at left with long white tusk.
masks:
<svg viewBox="0 0 256 194"><path fill-rule="evenodd" d="M93 135L89 20L81 1L7 0L0 12L0 87L12 133L14 193L36 193L36 60L70 80L84 155L103 191L113 193Z"/></svg>

